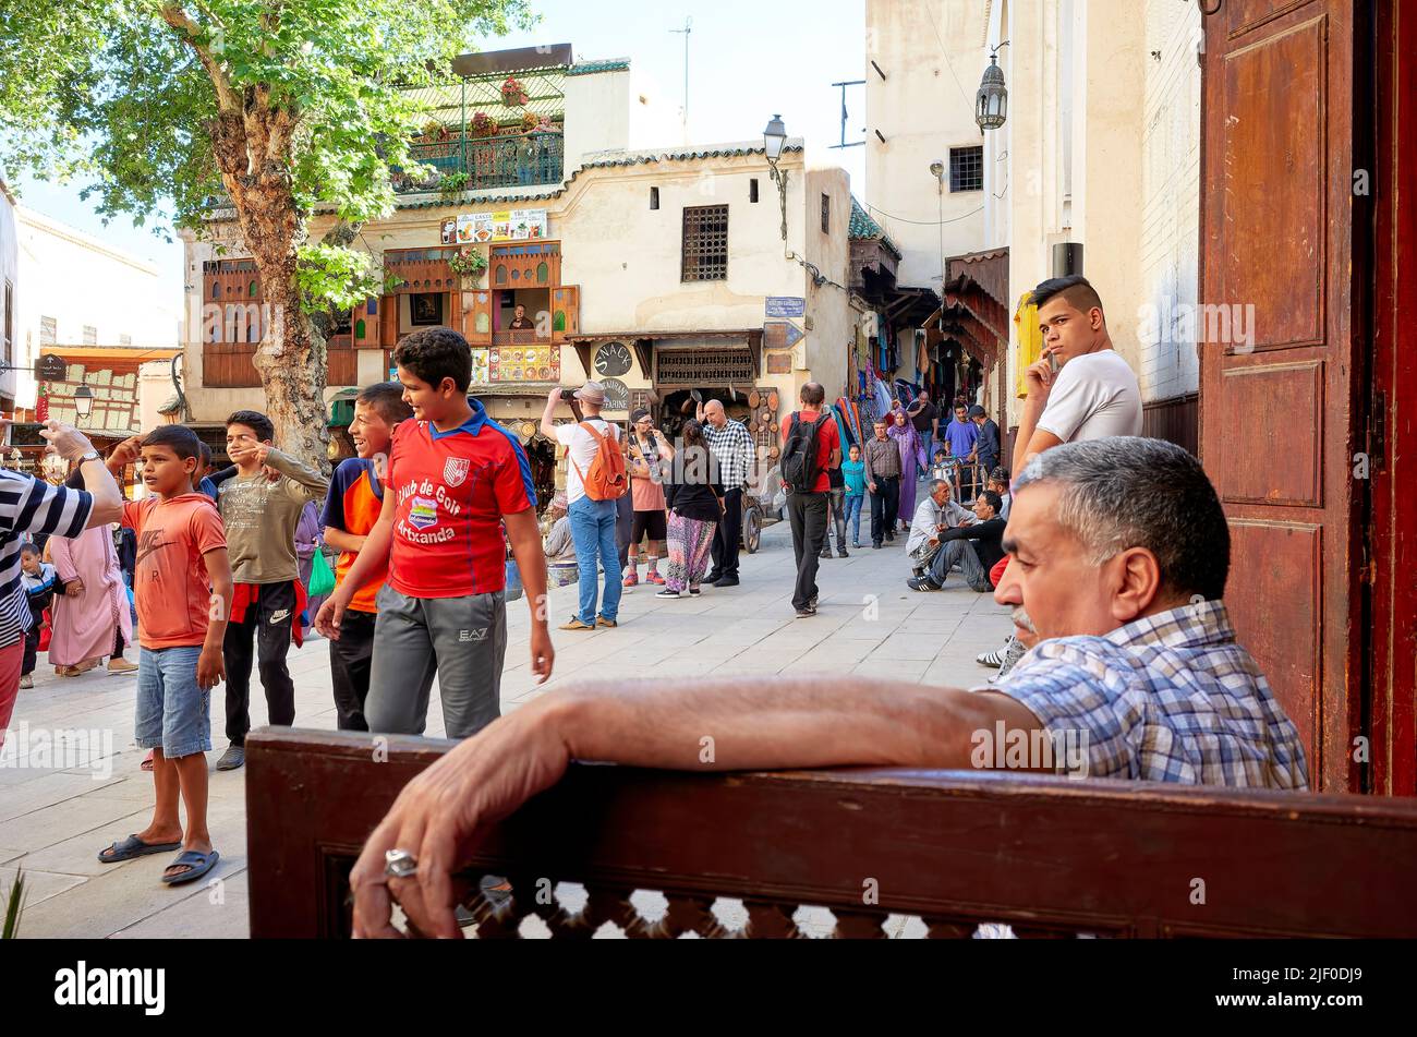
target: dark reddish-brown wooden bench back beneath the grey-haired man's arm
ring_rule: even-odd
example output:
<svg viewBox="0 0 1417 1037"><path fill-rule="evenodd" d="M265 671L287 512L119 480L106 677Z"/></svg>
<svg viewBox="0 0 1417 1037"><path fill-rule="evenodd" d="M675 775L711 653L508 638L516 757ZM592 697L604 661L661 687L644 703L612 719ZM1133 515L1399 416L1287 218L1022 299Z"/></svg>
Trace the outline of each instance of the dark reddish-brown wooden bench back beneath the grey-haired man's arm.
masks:
<svg viewBox="0 0 1417 1037"><path fill-rule="evenodd" d="M347 936L347 877L400 789L453 742L264 728L247 741L251 935ZM482 939L530 915L555 938L791 938L801 905L835 936L888 915L932 938L983 922L1029 936L1417 935L1417 800L1236 792L1155 782L888 769L691 775L581 766L493 826L473 867ZM1209 884L1196 902L1195 881ZM580 883L584 908L540 904ZM544 884L540 887L544 888ZM659 891L663 915L631 904ZM711 907L741 901L745 926ZM917 925L920 925L917 924Z"/></svg>

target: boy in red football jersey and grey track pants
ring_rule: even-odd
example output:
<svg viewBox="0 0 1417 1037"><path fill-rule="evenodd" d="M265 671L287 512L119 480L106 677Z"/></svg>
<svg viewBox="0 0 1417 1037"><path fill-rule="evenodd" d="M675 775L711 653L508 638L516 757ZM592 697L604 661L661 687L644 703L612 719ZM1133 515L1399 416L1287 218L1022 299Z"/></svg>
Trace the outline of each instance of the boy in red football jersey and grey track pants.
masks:
<svg viewBox="0 0 1417 1037"><path fill-rule="evenodd" d="M531 468L514 435L468 398L472 350L449 327L414 332L394 350L414 421L394 431L378 521L315 625L340 638L354 594L387 564L374 623L364 718L371 731L422 734L434 674L449 738L500 713L507 647L502 524L531 609L531 673L551 676L546 555Z"/></svg>

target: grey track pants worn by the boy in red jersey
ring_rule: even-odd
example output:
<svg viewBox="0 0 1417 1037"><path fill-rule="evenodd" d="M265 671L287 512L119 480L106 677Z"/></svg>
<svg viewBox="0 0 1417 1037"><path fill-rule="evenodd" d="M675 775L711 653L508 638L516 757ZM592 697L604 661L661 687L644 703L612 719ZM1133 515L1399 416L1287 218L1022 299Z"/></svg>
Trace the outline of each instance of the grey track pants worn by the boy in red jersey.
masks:
<svg viewBox="0 0 1417 1037"><path fill-rule="evenodd" d="M507 654L503 594L408 598L384 584L364 718L381 734L422 734L434 674L449 738L470 738L502 715Z"/></svg>

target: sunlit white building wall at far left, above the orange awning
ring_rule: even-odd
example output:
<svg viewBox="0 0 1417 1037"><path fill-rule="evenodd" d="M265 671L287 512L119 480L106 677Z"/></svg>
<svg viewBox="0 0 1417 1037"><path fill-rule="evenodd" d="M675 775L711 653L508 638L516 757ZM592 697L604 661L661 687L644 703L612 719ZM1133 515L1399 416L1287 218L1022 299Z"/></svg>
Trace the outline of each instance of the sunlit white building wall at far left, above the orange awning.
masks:
<svg viewBox="0 0 1417 1037"><path fill-rule="evenodd" d="M57 322L57 344L82 346L84 326L99 346L173 347L181 333L177 300L157 268L23 205L16 210L17 262L26 282L16 323L16 361L40 354L40 319ZM17 373L18 404L34 407L34 378Z"/></svg>

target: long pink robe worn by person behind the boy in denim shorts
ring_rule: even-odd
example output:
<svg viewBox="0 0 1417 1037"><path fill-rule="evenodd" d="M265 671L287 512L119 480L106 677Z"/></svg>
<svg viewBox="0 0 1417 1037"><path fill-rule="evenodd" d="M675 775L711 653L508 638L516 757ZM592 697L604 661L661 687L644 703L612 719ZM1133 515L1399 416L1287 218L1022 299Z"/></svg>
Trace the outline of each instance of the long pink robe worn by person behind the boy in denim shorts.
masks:
<svg viewBox="0 0 1417 1037"><path fill-rule="evenodd" d="M50 662L58 676L74 677L92 670L103 656L112 656L119 633L125 645L130 643L133 619L108 526L84 530L72 540L50 537L48 548L54 570L65 582L64 596L54 599ZM111 669L130 673L136 667L128 663Z"/></svg>

